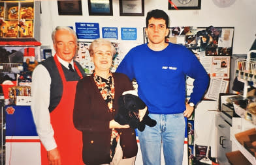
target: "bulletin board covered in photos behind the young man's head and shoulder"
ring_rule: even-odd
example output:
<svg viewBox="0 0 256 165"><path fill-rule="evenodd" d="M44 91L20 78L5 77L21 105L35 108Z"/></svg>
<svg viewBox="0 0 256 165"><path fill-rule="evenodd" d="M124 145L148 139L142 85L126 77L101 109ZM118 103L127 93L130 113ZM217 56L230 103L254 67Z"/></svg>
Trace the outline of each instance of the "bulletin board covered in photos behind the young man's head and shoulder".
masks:
<svg viewBox="0 0 256 165"><path fill-rule="evenodd" d="M144 28L144 43L148 43ZM185 45L195 55L231 56L234 27L169 27L166 41Z"/></svg>

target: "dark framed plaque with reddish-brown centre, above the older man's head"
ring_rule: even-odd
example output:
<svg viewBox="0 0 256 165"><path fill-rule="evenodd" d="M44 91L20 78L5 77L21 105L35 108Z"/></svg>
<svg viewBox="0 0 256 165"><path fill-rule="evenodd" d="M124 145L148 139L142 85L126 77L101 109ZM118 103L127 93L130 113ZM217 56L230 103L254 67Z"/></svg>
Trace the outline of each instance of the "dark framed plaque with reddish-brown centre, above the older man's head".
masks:
<svg viewBox="0 0 256 165"><path fill-rule="evenodd" d="M81 0L57 1L59 16L82 16Z"/></svg>

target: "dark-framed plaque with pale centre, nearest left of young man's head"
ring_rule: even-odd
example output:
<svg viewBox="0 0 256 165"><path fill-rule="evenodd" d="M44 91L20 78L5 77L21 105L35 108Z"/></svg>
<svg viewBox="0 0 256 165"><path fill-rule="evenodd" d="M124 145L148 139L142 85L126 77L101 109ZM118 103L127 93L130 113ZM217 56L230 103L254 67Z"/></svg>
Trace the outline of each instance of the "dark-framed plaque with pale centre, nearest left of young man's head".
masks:
<svg viewBox="0 0 256 165"><path fill-rule="evenodd" d="M119 0L120 16L144 16L144 0Z"/></svg>

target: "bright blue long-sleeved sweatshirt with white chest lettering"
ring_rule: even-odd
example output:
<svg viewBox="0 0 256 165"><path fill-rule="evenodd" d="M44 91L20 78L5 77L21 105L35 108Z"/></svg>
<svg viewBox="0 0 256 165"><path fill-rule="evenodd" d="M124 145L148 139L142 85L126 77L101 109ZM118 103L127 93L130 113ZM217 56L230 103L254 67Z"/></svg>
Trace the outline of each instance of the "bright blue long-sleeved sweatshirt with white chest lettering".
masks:
<svg viewBox="0 0 256 165"><path fill-rule="evenodd" d="M116 72L138 83L138 95L152 114L178 114L185 110L186 75L195 79L189 102L195 105L208 87L209 77L195 55L183 45L153 51L147 44L133 47Z"/></svg>

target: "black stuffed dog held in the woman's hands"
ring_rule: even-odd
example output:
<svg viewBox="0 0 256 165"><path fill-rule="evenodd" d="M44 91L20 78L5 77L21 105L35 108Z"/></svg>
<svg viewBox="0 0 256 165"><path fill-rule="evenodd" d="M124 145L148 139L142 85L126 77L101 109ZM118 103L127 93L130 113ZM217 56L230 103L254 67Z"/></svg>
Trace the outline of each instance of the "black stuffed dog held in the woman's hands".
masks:
<svg viewBox="0 0 256 165"><path fill-rule="evenodd" d="M138 110L144 109L146 104L138 97L135 90L123 92L123 95L118 100L119 109L114 120L121 125L129 124L131 128L138 128L139 131L144 131L146 125L153 127L157 121L152 120L146 111L142 121L138 117Z"/></svg>

